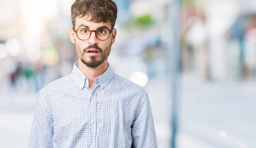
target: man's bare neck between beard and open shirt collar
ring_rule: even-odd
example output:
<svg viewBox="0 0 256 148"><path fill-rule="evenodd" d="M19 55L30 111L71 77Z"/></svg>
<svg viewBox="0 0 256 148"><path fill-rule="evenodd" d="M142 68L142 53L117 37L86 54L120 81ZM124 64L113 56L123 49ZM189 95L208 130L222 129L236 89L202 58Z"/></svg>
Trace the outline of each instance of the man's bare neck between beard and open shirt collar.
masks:
<svg viewBox="0 0 256 148"><path fill-rule="evenodd" d="M105 60L98 67L90 68L87 67L80 59L79 59L79 67L78 69L86 76L89 81L89 87L93 89L94 80L102 75L108 69L108 60Z"/></svg>

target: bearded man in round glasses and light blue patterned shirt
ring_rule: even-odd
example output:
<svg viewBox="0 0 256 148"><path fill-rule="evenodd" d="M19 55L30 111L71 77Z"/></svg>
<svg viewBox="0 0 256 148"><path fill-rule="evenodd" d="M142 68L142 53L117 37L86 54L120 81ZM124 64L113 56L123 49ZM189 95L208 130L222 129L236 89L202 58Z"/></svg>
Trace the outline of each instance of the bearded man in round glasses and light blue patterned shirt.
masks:
<svg viewBox="0 0 256 148"><path fill-rule="evenodd" d="M116 4L76 0L71 14L79 61L39 92L30 148L157 148L147 93L108 64Z"/></svg>

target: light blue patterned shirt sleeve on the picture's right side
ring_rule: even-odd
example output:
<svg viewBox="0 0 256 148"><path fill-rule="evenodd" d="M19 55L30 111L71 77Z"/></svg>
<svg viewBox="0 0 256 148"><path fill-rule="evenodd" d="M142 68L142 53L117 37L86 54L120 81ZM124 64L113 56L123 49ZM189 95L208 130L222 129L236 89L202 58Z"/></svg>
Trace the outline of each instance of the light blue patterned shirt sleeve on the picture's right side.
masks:
<svg viewBox="0 0 256 148"><path fill-rule="evenodd" d="M132 148L157 148L153 116L146 92L131 125L131 137Z"/></svg>

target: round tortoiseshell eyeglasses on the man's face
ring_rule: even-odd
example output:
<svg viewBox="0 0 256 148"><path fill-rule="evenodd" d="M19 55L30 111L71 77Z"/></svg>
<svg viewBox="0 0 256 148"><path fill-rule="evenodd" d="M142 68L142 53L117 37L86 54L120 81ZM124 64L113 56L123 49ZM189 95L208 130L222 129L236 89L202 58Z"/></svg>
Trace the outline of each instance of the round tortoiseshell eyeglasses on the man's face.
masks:
<svg viewBox="0 0 256 148"><path fill-rule="evenodd" d="M74 28L73 28L73 31L76 32L76 36L82 41L89 39L92 32L95 32L97 39L99 39L101 41L105 41L109 38L111 32L113 32L113 31L109 30L108 28L100 28L96 31L95 30L91 31L88 28L79 28L77 30L74 30Z"/></svg>

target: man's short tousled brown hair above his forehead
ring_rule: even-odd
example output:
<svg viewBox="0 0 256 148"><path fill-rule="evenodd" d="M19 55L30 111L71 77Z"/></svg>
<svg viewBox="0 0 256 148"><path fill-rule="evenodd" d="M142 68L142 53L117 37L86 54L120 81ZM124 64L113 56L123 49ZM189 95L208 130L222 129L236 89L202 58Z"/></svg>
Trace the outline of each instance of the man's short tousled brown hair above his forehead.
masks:
<svg viewBox="0 0 256 148"><path fill-rule="evenodd" d="M75 27L76 17L87 15L93 22L110 22L111 30L116 24L117 7L112 0L76 0L71 6L72 24Z"/></svg>

